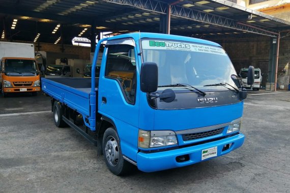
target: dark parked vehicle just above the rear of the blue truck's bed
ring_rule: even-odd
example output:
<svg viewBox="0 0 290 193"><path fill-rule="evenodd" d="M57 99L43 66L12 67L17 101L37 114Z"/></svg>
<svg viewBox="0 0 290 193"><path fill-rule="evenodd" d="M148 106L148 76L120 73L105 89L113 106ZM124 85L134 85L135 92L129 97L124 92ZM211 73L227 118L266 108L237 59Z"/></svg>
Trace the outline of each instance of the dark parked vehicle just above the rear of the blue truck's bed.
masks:
<svg viewBox="0 0 290 193"><path fill-rule="evenodd" d="M49 65L45 70L45 78L72 77L72 72L69 65Z"/></svg>

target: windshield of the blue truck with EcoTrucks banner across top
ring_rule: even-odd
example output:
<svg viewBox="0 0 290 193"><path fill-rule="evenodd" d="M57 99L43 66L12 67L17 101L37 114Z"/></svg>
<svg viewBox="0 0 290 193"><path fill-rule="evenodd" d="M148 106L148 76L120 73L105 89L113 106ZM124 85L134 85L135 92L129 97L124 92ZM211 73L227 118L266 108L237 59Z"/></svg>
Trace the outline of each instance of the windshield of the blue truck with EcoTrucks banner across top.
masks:
<svg viewBox="0 0 290 193"><path fill-rule="evenodd" d="M176 41L142 41L144 62L158 65L158 90L166 89L163 85L189 84L200 90L228 90L228 83L237 86L230 75L237 75L225 51L216 46L193 44ZM185 89L173 87L172 89Z"/></svg>

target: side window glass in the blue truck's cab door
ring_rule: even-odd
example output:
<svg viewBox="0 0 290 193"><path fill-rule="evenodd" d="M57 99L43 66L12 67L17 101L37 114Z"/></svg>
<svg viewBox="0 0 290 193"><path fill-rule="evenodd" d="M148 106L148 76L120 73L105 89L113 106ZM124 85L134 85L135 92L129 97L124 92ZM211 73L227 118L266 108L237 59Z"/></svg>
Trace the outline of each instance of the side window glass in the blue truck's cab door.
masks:
<svg viewBox="0 0 290 193"><path fill-rule="evenodd" d="M118 81L127 102L135 103L136 61L133 46L111 45L108 47L105 76Z"/></svg>

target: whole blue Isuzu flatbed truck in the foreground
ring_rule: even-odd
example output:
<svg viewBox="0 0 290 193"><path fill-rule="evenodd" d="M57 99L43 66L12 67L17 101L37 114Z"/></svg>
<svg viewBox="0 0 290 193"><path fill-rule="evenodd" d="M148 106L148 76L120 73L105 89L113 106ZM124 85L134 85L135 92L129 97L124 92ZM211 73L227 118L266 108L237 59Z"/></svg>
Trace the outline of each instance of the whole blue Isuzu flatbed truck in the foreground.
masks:
<svg viewBox="0 0 290 193"><path fill-rule="evenodd" d="M210 41L151 33L105 38L92 79L43 78L42 90L56 126L69 125L97 145L115 175L132 165L144 172L188 166L244 143L247 92L226 52Z"/></svg>

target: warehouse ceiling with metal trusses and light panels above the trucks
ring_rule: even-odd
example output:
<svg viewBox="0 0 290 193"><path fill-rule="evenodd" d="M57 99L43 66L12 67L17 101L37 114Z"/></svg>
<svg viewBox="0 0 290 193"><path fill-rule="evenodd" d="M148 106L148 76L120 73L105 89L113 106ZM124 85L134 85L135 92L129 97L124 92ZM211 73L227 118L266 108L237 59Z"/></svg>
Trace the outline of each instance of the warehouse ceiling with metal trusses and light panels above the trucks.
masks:
<svg viewBox="0 0 290 193"><path fill-rule="evenodd" d="M0 0L0 33L6 40L55 43L92 38L100 31L162 32L171 4L171 34L276 36L290 23L221 0ZM92 30L92 26L96 26ZM164 28L164 25L163 25Z"/></svg>

